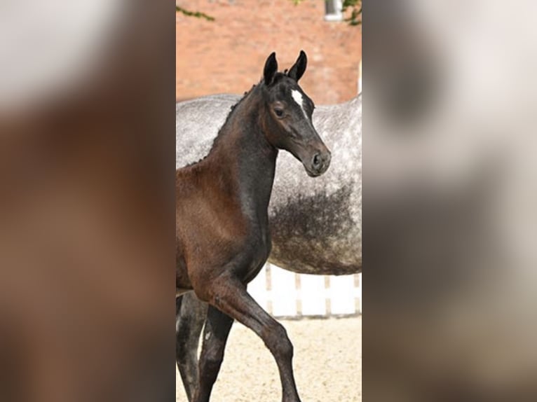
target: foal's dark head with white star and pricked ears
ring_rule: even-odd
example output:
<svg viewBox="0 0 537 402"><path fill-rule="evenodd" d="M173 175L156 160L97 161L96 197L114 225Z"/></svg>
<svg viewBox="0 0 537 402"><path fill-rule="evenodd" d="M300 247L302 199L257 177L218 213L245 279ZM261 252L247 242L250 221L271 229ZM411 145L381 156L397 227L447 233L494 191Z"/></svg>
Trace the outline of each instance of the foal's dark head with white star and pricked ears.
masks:
<svg viewBox="0 0 537 402"><path fill-rule="evenodd" d="M297 62L284 74L278 72L276 53L266 60L261 83L267 108L264 126L273 146L292 153L310 176L319 176L330 165L330 151L311 122L315 105L298 83L307 62L306 53L301 51Z"/></svg>

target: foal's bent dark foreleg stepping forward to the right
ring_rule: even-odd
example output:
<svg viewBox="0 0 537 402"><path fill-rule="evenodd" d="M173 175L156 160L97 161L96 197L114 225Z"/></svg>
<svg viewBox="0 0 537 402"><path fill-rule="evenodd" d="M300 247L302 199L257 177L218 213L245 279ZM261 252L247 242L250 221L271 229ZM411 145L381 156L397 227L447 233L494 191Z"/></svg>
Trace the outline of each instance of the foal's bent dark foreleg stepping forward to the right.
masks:
<svg viewBox="0 0 537 402"><path fill-rule="evenodd" d="M273 319L246 291L246 286L233 278L213 284L214 298L211 303L233 319L257 333L276 360L282 382L282 401L300 402L294 382L292 357L293 345L285 328Z"/></svg>

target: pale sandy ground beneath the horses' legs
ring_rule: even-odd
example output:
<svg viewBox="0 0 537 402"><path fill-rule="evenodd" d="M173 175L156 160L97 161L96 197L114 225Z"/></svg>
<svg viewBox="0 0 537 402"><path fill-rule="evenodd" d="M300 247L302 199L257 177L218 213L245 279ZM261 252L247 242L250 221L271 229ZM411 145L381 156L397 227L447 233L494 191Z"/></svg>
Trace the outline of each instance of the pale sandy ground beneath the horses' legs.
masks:
<svg viewBox="0 0 537 402"><path fill-rule="evenodd" d="M362 317L280 320L294 345L302 402L362 401ZM187 402L177 373L177 401ZM279 402L278 368L257 335L233 324L211 402Z"/></svg>

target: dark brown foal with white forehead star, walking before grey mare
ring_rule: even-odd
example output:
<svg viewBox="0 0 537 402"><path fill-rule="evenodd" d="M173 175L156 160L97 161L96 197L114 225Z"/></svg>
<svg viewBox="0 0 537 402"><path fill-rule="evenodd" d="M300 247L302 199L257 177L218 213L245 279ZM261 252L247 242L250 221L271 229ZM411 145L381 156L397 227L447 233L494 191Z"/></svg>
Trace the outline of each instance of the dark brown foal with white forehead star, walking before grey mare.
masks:
<svg viewBox="0 0 537 402"><path fill-rule="evenodd" d="M224 357L233 319L252 329L273 354L283 402L299 402L292 344L285 328L247 293L271 249L267 209L278 149L299 159L310 176L324 173L330 153L311 123L313 102L298 81L301 52L287 74L276 54L264 78L238 102L209 155L178 169L176 185L176 289L209 303L194 402L207 402Z"/></svg>

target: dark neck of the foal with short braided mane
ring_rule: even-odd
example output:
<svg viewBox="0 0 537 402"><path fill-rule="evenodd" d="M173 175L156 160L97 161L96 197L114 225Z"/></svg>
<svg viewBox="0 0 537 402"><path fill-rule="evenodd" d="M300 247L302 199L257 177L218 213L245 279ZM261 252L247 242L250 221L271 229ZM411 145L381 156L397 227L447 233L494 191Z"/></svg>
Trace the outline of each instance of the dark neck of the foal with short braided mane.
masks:
<svg viewBox="0 0 537 402"><path fill-rule="evenodd" d="M214 154L222 162L220 165L225 166L222 175L238 181L236 195L243 214L250 221L266 226L278 148L264 134L263 102L260 89L254 88L235 106L210 156Z"/></svg>

